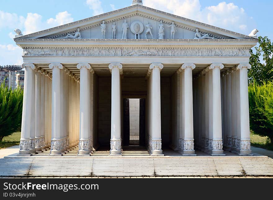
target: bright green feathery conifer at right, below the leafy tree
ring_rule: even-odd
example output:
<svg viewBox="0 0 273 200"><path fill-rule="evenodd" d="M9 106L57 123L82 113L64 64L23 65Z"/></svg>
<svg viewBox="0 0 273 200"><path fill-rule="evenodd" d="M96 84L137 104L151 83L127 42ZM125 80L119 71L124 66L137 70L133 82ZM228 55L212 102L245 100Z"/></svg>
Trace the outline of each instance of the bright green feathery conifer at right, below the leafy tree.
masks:
<svg viewBox="0 0 273 200"><path fill-rule="evenodd" d="M248 86L250 128L260 136L267 136L273 146L273 82Z"/></svg>

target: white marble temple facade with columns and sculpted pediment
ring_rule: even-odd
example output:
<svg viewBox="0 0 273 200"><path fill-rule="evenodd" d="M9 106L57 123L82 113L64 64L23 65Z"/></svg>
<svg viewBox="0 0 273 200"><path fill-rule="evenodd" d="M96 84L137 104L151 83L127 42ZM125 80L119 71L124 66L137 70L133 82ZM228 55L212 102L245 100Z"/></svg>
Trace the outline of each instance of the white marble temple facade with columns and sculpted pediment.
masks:
<svg viewBox="0 0 273 200"><path fill-rule="evenodd" d="M162 77L172 83L167 95L174 102L168 104L170 147L183 156L196 156L197 149L212 156L225 156L223 150L252 155L247 70L257 39L141 4L134 1L117 11L16 36L25 68L20 156L47 150L62 156L74 145L78 156L92 155L103 135L100 126L108 126L97 108L104 77L111 77L105 85L111 88L105 100L111 104L111 156L122 155L121 102L127 93L121 80L126 77L146 78L145 92L130 95L146 99L151 156L164 155Z"/></svg>

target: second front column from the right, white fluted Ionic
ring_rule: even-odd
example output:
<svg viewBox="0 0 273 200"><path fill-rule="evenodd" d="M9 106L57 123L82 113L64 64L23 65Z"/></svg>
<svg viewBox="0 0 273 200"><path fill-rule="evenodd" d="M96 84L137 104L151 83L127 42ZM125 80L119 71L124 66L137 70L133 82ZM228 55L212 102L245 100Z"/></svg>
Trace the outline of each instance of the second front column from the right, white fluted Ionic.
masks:
<svg viewBox="0 0 273 200"><path fill-rule="evenodd" d="M223 64L211 64L210 69L213 71L213 150L212 156L225 156L223 154L222 140L222 114L221 114L221 78L220 69L224 68Z"/></svg>

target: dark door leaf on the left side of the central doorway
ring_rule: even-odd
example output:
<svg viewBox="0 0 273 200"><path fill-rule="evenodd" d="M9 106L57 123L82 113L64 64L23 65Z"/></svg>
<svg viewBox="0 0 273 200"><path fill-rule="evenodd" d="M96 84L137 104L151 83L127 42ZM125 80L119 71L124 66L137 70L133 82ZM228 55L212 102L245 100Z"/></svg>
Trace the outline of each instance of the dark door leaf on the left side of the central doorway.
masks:
<svg viewBox="0 0 273 200"><path fill-rule="evenodd" d="M130 141L129 99L123 99L123 146L128 146L129 141Z"/></svg>

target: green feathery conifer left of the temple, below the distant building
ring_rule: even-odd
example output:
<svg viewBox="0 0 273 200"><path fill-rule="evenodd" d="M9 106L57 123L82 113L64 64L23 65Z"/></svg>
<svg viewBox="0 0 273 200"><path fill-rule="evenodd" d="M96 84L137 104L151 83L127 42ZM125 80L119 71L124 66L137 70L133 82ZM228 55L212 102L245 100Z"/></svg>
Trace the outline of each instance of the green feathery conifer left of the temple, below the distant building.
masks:
<svg viewBox="0 0 273 200"><path fill-rule="evenodd" d="M0 86L0 142L3 137L20 130L23 108L23 89Z"/></svg>

